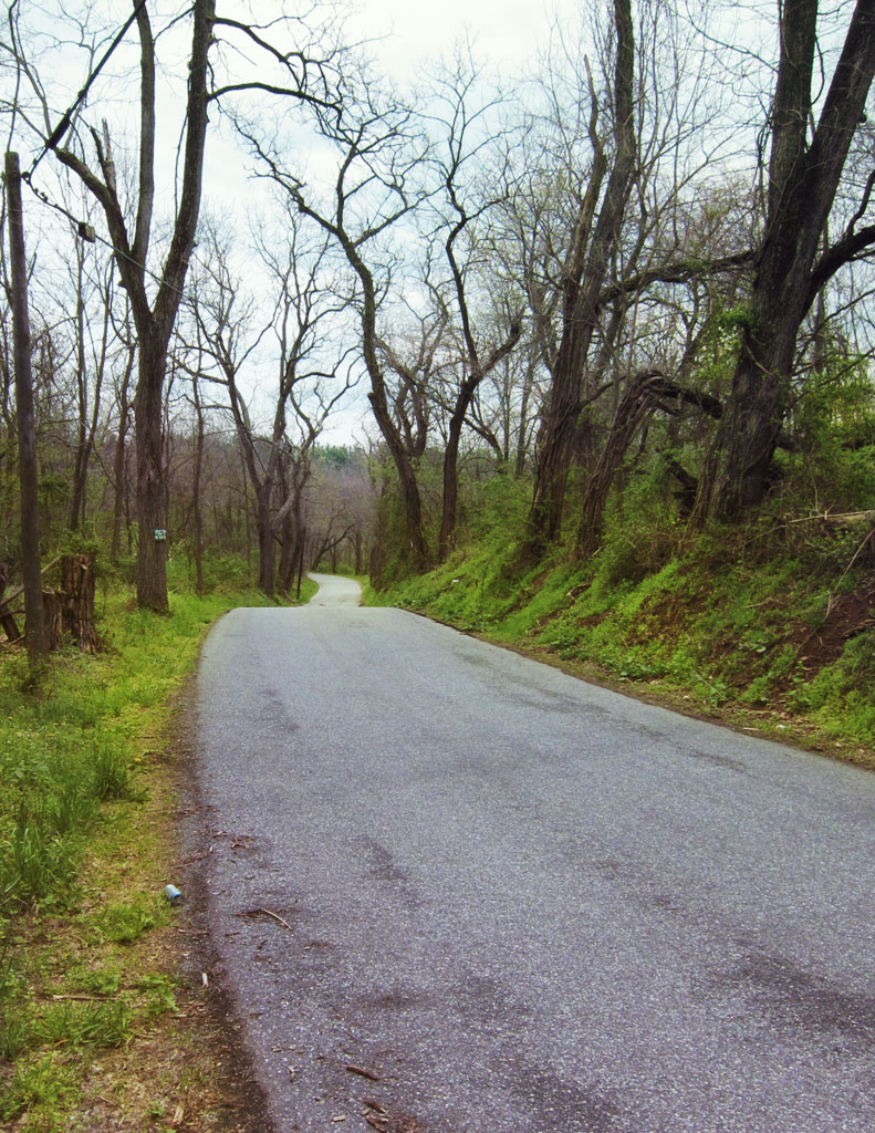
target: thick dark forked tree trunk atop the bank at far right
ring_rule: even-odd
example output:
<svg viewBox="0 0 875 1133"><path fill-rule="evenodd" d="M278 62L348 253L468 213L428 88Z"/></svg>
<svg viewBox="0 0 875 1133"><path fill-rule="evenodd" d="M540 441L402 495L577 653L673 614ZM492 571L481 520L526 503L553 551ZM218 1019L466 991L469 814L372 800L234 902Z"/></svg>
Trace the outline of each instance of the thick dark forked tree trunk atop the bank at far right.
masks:
<svg viewBox="0 0 875 1133"><path fill-rule="evenodd" d="M785 0L781 9L766 224L716 457L700 482L699 521L708 512L732 519L762 502L789 408L799 326L826 279L875 241L875 227L855 231L852 222L816 262L875 76L875 0L856 5L808 144L817 7Z"/></svg>

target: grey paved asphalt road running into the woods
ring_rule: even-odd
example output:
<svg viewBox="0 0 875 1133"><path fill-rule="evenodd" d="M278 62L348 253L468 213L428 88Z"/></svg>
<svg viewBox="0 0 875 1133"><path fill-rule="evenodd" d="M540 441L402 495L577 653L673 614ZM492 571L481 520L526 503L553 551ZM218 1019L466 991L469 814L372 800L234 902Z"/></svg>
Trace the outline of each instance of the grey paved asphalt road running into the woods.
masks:
<svg viewBox="0 0 875 1133"><path fill-rule="evenodd" d="M334 585L229 614L201 672L277 1130L875 1130L875 776Z"/></svg>

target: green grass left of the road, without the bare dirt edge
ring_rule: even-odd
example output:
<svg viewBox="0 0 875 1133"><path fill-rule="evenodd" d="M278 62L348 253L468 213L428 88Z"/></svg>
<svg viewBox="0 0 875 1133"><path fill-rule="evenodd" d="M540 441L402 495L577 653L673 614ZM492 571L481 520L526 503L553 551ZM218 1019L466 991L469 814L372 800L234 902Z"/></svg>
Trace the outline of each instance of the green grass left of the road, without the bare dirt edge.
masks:
<svg viewBox="0 0 875 1133"><path fill-rule="evenodd" d="M165 617L103 579L95 656L65 650L33 673L0 654L3 1127L67 1127L97 1053L175 1011L172 977L150 970L171 919L171 698L216 617L269 603L253 590L198 598L170 578ZM301 599L314 591L307 582Z"/></svg>

